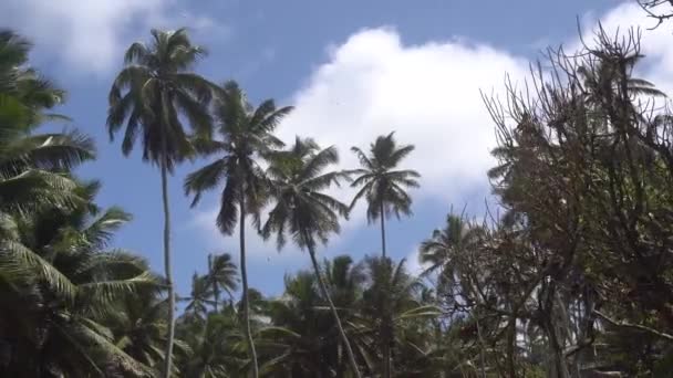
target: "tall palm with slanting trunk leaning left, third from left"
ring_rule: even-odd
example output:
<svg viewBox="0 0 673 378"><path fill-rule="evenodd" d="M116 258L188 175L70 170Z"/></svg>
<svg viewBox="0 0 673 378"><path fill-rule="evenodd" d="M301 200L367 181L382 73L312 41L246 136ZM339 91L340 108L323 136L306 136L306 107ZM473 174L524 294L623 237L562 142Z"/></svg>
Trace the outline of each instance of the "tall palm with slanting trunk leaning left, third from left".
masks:
<svg viewBox="0 0 673 378"><path fill-rule="evenodd" d="M312 139L297 137L290 149L272 154L270 160L267 172L270 196L276 204L262 227L262 237L268 239L276 233L280 249L286 242L286 233L289 233L299 248L309 251L320 291L334 316L353 374L360 378L355 356L315 258L317 242L325 244L331 233L340 231L339 217L348 216L345 204L323 192L345 177L341 171L323 172L339 161L336 149L333 146L320 149Z"/></svg>

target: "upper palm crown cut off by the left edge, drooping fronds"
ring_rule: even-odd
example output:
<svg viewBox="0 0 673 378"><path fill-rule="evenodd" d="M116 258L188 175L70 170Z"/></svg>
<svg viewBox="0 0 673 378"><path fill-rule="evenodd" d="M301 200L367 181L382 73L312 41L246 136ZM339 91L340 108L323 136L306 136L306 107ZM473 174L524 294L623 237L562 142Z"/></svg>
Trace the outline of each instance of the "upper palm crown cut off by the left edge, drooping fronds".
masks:
<svg viewBox="0 0 673 378"><path fill-rule="evenodd" d="M65 119L51 111L64 98L28 62L30 43L0 30L0 212L40 206L73 206L76 183L68 171L94 158L91 138L70 130L37 134L44 120Z"/></svg>

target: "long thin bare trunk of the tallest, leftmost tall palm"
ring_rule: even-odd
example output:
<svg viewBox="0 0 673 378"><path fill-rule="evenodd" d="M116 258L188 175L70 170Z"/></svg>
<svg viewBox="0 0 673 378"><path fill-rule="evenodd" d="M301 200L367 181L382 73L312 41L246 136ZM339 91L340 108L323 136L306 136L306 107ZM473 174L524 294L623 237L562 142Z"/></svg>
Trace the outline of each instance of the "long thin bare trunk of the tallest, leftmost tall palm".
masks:
<svg viewBox="0 0 673 378"><path fill-rule="evenodd" d="M170 209L168 206L168 178L166 139L162 141L162 198L164 201L164 275L168 286L168 340L166 344L164 378L170 377L173 342L175 338L175 287L173 286L173 266L170 263Z"/></svg>

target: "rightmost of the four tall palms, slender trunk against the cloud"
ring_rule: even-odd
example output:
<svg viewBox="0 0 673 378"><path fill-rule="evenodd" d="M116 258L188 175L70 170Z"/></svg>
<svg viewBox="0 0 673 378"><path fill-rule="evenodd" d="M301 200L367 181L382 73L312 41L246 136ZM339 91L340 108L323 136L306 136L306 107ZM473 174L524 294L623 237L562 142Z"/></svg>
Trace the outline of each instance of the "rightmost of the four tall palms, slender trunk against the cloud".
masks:
<svg viewBox="0 0 673 378"><path fill-rule="evenodd" d="M414 150L414 146L397 146L394 133L380 136L370 146L370 155L360 148L352 147L362 168L351 172L359 175L351 183L352 187L362 186L355 195L350 209L364 197L367 201L366 219L373 222L381 219L381 250L385 258L385 217L393 212L397 219L400 214L411 214L412 198L406 193L407 188L417 188L421 177L411 169L395 170L400 161Z"/></svg>

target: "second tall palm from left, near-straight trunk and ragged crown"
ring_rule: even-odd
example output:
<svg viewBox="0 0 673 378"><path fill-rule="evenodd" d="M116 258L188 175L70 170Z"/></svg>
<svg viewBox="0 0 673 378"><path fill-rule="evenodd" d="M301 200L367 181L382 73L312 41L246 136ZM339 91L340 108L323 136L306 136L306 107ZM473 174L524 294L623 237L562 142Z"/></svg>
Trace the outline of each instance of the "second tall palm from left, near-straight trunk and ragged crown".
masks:
<svg viewBox="0 0 673 378"><path fill-rule="evenodd" d="M253 376L257 378L259 368L250 332L248 304L246 217L250 214L256 223L259 222L259 211L265 203L266 180L257 159L271 147L282 146L271 133L292 107L276 108L273 101L267 99L253 108L236 82L227 82L217 90L214 103L216 132L221 136L221 140L201 139L198 140L198 147L201 153L218 156L214 162L187 176L185 191L187 195L194 193L195 206L204 191L226 180L216 222L219 230L229 235L235 231L238 221L244 327Z"/></svg>

